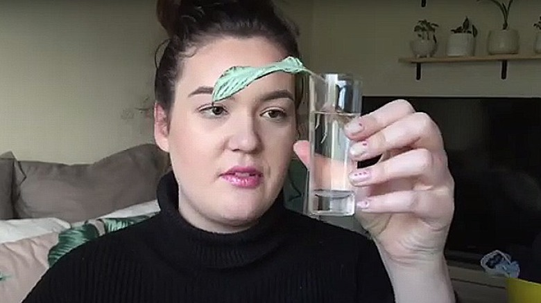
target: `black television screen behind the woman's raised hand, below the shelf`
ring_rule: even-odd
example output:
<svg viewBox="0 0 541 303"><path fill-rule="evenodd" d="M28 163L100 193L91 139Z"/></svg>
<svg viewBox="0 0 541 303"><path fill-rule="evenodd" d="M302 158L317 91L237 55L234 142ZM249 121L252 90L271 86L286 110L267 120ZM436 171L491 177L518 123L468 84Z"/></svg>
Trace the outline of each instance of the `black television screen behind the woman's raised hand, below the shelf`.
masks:
<svg viewBox="0 0 541 303"><path fill-rule="evenodd" d="M395 97L365 96L363 112ZM446 255L479 264L541 232L541 98L409 97L439 125L455 181Z"/></svg>

